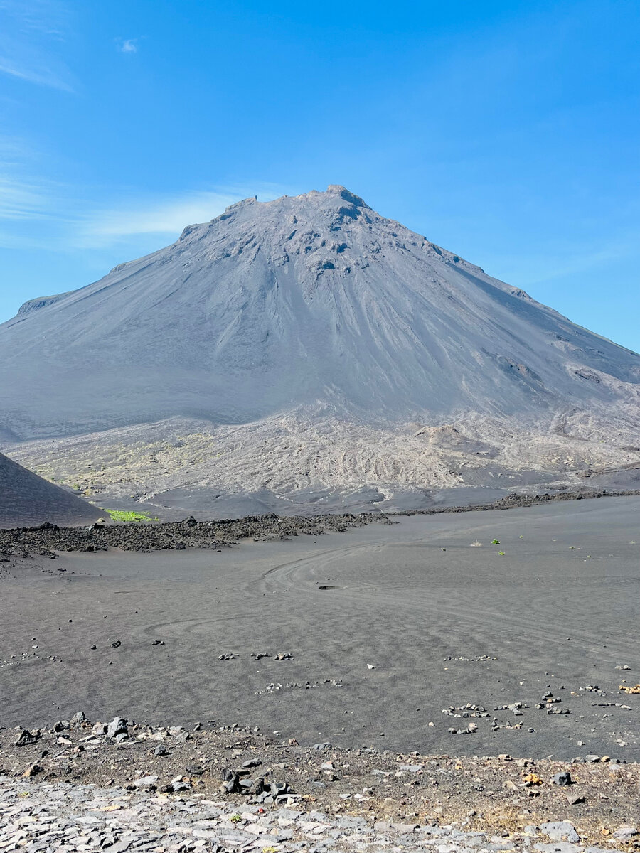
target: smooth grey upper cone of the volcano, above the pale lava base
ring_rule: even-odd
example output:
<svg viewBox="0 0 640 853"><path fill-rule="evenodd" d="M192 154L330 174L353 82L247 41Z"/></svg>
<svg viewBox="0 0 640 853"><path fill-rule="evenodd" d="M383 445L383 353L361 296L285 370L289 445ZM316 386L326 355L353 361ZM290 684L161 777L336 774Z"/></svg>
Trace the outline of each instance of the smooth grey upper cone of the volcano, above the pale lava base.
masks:
<svg viewBox="0 0 640 853"><path fill-rule="evenodd" d="M341 187L241 201L26 308L0 327L3 426L23 439L318 401L391 420L527 415L640 383L636 354Z"/></svg>

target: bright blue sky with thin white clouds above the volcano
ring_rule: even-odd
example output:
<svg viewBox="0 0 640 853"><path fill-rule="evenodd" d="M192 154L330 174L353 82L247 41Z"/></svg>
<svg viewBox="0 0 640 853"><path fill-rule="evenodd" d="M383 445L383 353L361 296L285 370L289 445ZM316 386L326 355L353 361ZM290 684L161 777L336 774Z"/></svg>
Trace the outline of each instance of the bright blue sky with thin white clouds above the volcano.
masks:
<svg viewBox="0 0 640 853"><path fill-rule="evenodd" d="M345 184L640 351L640 5L0 0L0 321Z"/></svg>

